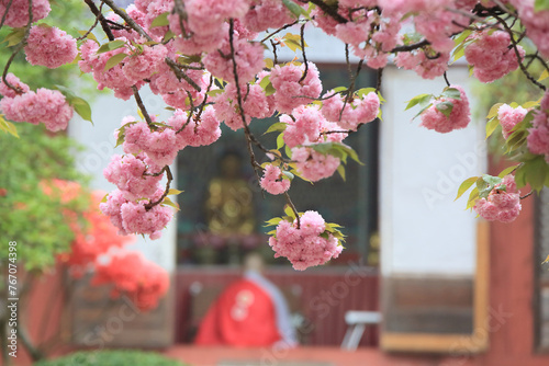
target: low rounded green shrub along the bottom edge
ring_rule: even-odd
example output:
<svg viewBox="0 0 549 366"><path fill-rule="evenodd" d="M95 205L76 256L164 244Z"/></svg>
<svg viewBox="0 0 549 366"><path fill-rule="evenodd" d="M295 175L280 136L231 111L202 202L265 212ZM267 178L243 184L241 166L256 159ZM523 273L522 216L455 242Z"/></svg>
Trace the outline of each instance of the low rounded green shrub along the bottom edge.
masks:
<svg viewBox="0 0 549 366"><path fill-rule="evenodd" d="M81 351L41 361L34 366L188 366L155 352L133 350Z"/></svg>

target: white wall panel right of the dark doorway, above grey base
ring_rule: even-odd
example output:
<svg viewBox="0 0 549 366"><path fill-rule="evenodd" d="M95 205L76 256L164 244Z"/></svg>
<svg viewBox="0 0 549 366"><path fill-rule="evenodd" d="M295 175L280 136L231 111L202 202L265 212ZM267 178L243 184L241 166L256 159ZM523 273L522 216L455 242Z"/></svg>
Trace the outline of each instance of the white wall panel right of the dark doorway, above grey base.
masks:
<svg viewBox="0 0 549 366"><path fill-rule="evenodd" d="M449 80L473 100L466 67ZM453 202L459 185L485 171L483 125L439 134L419 127L417 94L440 94L445 82L423 80L412 71L389 67L383 73L380 151L381 270L383 275L472 275L475 264L475 214L466 199Z"/></svg>

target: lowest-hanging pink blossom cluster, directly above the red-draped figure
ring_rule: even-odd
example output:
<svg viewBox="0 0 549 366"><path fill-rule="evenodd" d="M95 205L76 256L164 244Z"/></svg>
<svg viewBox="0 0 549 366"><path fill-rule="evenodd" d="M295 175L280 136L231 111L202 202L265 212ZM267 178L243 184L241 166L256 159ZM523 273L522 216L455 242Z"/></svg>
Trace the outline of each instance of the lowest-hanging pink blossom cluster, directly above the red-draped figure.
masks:
<svg viewBox="0 0 549 366"><path fill-rule="evenodd" d="M322 216L312 210L300 215L299 226L296 218L293 221L281 220L276 235L269 238L274 258L285 256L298 271L336 259L343 245L326 226Z"/></svg>

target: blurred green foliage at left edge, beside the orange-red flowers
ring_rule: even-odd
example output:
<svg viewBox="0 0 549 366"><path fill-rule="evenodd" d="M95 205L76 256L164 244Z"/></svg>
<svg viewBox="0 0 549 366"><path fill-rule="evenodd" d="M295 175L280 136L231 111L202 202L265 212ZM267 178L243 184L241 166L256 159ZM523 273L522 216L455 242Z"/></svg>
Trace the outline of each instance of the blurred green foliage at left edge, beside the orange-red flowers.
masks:
<svg viewBox="0 0 549 366"><path fill-rule="evenodd" d="M16 124L20 139L0 134L0 260L8 261L8 242L18 242L18 263L43 271L66 252L75 235L66 210L77 214L89 207L85 196L60 203L47 195L41 181L86 182L75 168L77 145L64 135L52 136L43 126ZM85 225L85 222L79 222Z"/></svg>

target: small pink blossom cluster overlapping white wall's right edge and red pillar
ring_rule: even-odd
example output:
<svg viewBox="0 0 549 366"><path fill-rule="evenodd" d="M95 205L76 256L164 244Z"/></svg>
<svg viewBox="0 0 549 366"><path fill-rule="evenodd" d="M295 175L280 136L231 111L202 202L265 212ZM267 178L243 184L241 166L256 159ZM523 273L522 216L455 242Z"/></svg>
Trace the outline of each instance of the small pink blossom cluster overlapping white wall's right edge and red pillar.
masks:
<svg viewBox="0 0 549 366"><path fill-rule="evenodd" d="M503 182L490 192L488 198L480 198L474 205L474 210L490 221L514 221L520 209L520 195L515 178L511 174L505 175Z"/></svg>

